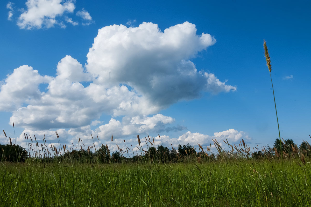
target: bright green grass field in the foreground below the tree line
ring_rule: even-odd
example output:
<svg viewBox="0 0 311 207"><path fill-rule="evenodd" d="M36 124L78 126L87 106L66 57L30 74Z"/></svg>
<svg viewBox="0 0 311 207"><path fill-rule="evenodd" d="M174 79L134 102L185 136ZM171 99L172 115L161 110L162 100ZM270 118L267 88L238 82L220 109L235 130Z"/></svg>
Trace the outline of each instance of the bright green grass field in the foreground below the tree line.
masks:
<svg viewBox="0 0 311 207"><path fill-rule="evenodd" d="M7 162L0 169L0 205L310 206L310 169L310 163L299 159L284 160L284 173L278 159L179 164Z"/></svg>

